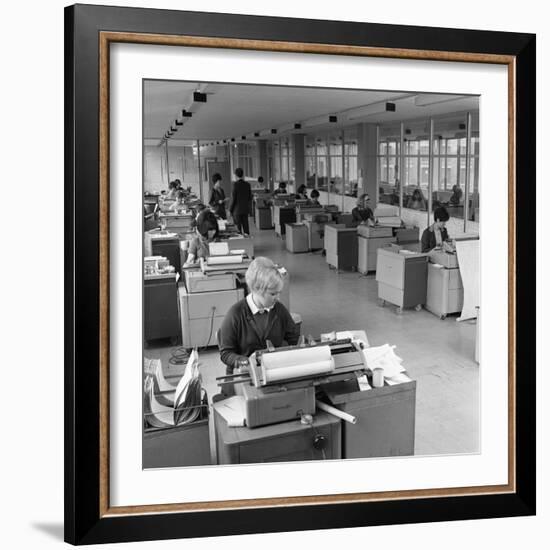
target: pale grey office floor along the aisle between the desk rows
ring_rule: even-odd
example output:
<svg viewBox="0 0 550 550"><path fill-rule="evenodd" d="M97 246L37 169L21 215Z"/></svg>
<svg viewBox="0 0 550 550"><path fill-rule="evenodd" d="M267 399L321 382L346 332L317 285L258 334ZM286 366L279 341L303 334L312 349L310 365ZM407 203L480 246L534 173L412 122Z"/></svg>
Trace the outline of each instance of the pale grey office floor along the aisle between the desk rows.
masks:
<svg viewBox="0 0 550 550"><path fill-rule="evenodd" d="M363 329L369 343L396 346L409 375L417 381L415 454L475 453L479 450L479 366L474 362L475 322L440 320L423 310L395 313L378 305L374 275L337 272L319 253L291 254L272 230L256 231L256 256L268 256L290 274L290 309L302 316L302 334ZM158 345L166 345L158 343ZM166 373L172 347L145 350L160 357ZM203 384L209 399L224 373L216 348L200 352ZM211 437L212 437L211 433Z"/></svg>

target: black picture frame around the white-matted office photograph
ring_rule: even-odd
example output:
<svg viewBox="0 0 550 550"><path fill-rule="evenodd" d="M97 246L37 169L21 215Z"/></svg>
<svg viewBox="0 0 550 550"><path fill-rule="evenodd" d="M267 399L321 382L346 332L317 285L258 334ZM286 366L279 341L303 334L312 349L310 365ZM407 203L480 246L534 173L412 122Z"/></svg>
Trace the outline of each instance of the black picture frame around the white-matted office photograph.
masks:
<svg viewBox="0 0 550 550"><path fill-rule="evenodd" d="M108 253L100 189L102 32L194 36L298 45L384 48L422 58L422 52L500 55L515 75L509 301L515 344L510 381L515 468L497 494L239 507L155 514L109 512L101 494L100 419L108 395L100 365L108 362L108 303L101 285ZM411 53L412 52L412 53ZM414 52L419 52L415 55ZM532 34L305 20L143 8L75 5L65 9L65 540L72 544L212 537L333 529L389 523L435 522L535 514L535 63ZM106 202L105 202L106 201ZM103 213L103 214L102 214ZM107 241L106 241L107 239ZM103 342L103 346L100 345ZM521 368L515 368L515 365ZM103 386L105 390L105 386ZM103 480L104 482L105 480Z"/></svg>

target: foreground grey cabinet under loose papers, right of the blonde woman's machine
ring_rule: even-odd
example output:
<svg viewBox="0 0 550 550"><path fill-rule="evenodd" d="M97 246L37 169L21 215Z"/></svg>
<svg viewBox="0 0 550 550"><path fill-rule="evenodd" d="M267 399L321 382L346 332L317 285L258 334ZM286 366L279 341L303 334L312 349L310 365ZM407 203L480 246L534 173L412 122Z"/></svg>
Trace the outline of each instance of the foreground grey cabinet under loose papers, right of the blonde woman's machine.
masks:
<svg viewBox="0 0 550 550"><path fill-rule="evenodd" d="M360 391L354 379L323 390L334 407L357 420L342 422L342 458L414 454L416 381Z"/></svg>

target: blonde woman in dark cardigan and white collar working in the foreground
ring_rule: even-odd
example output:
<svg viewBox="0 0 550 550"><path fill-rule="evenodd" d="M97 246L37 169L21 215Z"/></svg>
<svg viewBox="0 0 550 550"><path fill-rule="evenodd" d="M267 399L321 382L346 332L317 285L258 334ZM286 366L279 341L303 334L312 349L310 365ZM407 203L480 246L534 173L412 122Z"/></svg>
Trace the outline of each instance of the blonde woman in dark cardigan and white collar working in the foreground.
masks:
<svg viewBox="0 0 550 550"><path fill-rule="evenodd" d="M252 261L246 271L246 284L250 294L231 307L218 333L226 374L232 374L240 362L248 364L249 356L265 349L267 340L280 347L283 342L295 345L300 337L289 311L277 301L284 281L269 258Z"/></svg>

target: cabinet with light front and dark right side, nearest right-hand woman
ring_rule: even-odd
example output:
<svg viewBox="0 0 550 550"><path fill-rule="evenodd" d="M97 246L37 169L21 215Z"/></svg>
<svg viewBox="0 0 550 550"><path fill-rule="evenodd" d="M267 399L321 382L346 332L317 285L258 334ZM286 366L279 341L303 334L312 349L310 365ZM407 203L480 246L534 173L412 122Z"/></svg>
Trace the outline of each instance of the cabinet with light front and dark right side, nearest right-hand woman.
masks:
<svg viewBox="0 0 550 550"><path fill-rule="evenodd" d="M417 307L426 303L428 279L427 254L402 254L379 248L376 264L378 298L381 304L390 302L402 308Z"/></svg>

